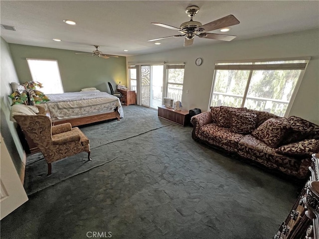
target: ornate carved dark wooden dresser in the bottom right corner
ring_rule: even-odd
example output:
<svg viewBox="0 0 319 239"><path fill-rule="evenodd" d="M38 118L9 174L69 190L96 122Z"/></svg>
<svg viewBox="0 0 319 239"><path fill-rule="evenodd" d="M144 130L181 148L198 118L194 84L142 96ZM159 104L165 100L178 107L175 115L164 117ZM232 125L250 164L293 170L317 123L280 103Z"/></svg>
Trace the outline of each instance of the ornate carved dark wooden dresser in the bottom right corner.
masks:
<svg viewBox="0 0 319 239"><path fill-rule="evenodd" d="M311 176L274 239L319 239L319 153L312 160Z"/></svg>

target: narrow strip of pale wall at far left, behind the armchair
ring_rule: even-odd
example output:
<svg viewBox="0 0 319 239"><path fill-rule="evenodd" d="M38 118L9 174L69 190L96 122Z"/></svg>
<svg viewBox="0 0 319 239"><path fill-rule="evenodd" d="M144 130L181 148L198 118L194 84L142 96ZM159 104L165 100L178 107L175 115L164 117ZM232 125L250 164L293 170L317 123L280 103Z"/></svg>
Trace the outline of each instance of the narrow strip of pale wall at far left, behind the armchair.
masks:
<svg viewBox="0 0 319 239"><path fill-rule="evenodd" d="M10 82L18 82L18 78L13 65L12 57L9 51L9 46L2 37L0 37L0 54L1 54L1 91L0 91L0 107L1 107L1 135L3 136L4 143L8 149L14 166L19 174L23 168L23 148L19 141L19 137L13 125L9 120L10 116L10 95L11 87ZM2 143L2 142L1 142ZM2 152L1 152L2 154Z"/></svg>

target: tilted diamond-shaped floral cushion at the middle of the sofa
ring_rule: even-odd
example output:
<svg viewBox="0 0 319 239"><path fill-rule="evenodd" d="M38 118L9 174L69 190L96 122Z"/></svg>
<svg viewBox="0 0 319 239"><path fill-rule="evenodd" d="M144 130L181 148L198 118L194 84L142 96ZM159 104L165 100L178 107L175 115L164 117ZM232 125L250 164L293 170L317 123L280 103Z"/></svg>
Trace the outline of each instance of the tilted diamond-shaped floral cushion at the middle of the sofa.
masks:
<svg viewBox="0 0 319 239"><path fill-rule="evenodd" d="M288 128L289 122L286 120L272 118L263 122L252 132L252 135L266 143L268 146L277 148Z"/></svg>

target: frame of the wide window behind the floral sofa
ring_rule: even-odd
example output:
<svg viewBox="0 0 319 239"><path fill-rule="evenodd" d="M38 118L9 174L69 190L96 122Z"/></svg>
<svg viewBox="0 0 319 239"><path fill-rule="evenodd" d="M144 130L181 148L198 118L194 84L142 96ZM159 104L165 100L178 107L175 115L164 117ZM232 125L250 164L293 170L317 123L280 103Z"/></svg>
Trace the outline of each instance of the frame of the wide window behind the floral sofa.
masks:
<svg viewBox="0 0 319 239"><path fill-rule="evenodd" d="M247 79L247 85L245 88L245 93L243 95L243 101L241 107L244 107L245 100L247 97L249 84L252 77L252 72L254 70L284 70L284 69L292 69L292 70L301 70L301 74L299 75L299 78L297 80L296 86L294 88L293 94L291 96L290 102L288 103L287 110L285 112L284 117L288 117L289 113L291 111L292 105L294 103L294 100L296 98L297 92L299 90L299 87L301 85L301 82L303 80L304 74L306 72L307 66L309 64L311 57L295 57L295 58L281 58L281 59L258 59L258 60L236 60L236 61L216 61L215 62L215 69L214 69L214 75L213 75L213 82L211 87L211 93L208 103L208 111L210 111L210 106L212 103L213 98L213 92L214 92L214 85L216 81L216 70L250 70L248 79ZM256 64L256 62L279 62L279 61L305 61L305 63L283 63L283 64ZM227 63L243 63L243 64L229 64ZM246 63L246 64L245 64ZM251 63L251 64L248 64Z"/></svg>

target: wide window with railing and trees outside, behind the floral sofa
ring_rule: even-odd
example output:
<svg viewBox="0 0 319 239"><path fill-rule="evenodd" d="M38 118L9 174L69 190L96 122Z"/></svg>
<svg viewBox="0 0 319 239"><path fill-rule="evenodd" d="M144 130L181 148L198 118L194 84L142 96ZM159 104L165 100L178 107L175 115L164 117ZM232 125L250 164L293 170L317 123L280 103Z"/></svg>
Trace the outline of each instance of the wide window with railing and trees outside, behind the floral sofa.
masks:
<svg viewBox="0 0 319 239"><path fill-rule="evenodd" d="M288 116L309 59L216 63L210 106Z"/></svg>

